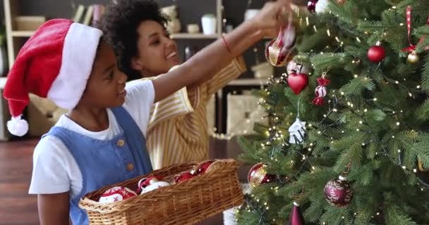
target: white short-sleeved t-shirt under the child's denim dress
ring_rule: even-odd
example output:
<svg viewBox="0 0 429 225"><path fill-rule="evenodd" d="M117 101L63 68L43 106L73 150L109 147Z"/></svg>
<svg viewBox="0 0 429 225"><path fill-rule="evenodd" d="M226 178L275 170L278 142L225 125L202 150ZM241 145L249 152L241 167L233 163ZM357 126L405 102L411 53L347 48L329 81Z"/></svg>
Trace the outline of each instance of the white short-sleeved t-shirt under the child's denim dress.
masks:
<svg viewBox="0 0 429 225"><path fill-rule="evenodd" d="M150 108L155 100L152 81L135 81L126 84L126 97L123 108L133 117L142 134L146 136ZM92 139L109 140L121 133L119 124L110 109L109 128L92 132L62 115L55 126L64 127ZM71 198L82 189L82 174L77 162L64 143L55 136L46 136L37 143L33 155L32 179L30 194L54 194L70 191Z"/></svg>

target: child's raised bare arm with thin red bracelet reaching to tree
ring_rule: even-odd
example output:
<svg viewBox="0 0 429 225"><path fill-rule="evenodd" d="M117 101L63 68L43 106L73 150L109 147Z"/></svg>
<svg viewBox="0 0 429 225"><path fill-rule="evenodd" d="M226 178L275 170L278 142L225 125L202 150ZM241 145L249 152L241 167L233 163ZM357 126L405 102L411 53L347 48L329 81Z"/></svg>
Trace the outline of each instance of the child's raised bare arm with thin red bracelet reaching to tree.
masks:
<svg viewBox="0 0 429 225"><path fill-rule="evenodd" d="M287 21L282 19L284 11L290 11L290 0L268 2L258 15L226 34L224 39L214 41L176 70L158 76L153 80L155 102L183 86L195 85L210 79L231 60L262 39L265 31L279 30L286 25Z"/></svg>

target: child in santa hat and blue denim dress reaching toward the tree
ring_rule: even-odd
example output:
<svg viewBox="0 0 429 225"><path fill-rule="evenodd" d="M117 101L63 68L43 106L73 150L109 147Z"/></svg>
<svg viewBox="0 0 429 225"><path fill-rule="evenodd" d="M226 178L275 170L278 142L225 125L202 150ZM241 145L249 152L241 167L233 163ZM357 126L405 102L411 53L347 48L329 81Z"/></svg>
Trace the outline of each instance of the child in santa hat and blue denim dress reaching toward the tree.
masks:
<svg viewBox="0 0 429 225"><path fill-rule="evenodd" d="M22 136L28 130L21 115L29 93L70 110L35 148L30 194L38 196L40 224L68 224L69 215L73 224L88 224L78 207L80 198L150 172L145 136L152 103L209 79L246 49L243 40L250 34L284 25L277 15L288 4L268 4L255 20L177 70L127 86L100 30L71 20L44 23L18 53L4 90L12 134Z"/></svg>

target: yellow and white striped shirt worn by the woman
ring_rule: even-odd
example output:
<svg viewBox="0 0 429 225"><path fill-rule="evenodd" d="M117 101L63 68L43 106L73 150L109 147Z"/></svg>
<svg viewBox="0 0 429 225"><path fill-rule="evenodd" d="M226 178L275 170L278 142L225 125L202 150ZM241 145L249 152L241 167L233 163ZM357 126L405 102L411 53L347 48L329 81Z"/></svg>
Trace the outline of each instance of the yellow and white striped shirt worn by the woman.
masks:
<svg viewBox="0 0 429 225"><path fill-rule="evenodd" d="M206 105L210 96L246 71L242 58L233 60L212 79L156 103L147 129L147 151L153 169L208 158Z"/></svg>

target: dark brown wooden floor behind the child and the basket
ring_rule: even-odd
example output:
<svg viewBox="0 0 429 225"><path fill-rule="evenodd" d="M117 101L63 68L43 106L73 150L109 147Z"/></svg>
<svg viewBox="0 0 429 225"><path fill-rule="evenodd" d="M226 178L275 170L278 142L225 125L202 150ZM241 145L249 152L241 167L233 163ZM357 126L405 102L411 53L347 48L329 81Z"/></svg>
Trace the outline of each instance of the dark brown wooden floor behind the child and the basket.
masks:
<svg viewBox="0 0 429 225"><path fill-rule="evenodd" d="M32 172L32 152L38 139L0 142L0 224L39 224L37 199L28 195ZM210 141L210 158L236 158L240 153L236 141ZM238 173L244 181L248 167ZM200 225L223 224L222 214Z"/></svg>

